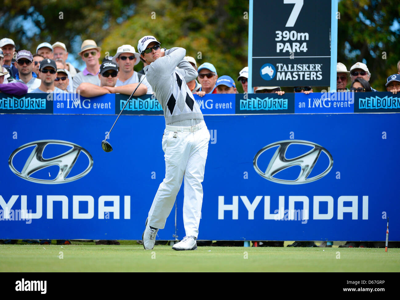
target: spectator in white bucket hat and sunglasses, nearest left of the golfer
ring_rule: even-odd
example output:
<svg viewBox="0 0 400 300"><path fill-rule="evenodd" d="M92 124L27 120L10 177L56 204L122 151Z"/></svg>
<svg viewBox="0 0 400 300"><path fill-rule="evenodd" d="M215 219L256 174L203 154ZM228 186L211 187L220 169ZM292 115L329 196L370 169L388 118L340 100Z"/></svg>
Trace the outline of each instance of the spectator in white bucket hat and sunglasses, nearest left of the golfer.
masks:
<svg viewBox="0 0 400 300"><path fill-rule="evenodd" d="M118 79L115 86L119 87L124 85L126 89L130 88L130 94L136 89L138 83L144 77L144 75L140 75L138 72L133 70L134 66L140 62L139 57L140 55L136 53L133 46L122 45L118 47L117 53L112 58L112 62L119 66ZM144 78L134 95L140 96L146 93L152 94L153 90L150 83L148 83L147 79Z"/></svg>

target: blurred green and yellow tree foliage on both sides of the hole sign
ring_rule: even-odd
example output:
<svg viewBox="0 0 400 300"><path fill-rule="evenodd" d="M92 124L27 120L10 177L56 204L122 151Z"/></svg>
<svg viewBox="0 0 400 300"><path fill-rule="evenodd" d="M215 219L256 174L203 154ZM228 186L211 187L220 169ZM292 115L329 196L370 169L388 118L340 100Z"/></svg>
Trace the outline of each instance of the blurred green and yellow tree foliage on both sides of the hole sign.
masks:
<svg viewBox="0 0 400 300"><path fill-rule="evenodd" d="M41 42L60 41L77 56L82 40L92 39L102 47L104 57L106 52L114 55L122 44L136 48L139 38L154 35L166 48L186 48L187 55L193 56L198 65L211 62L220 76L236 79L247 66L248 1L3 2L0 37L12 38L17 50L26 48L34 52ZM340 0L339 12L338 62L348 69L355 62L366 63L372 73L371 85L384 90L386 77L397 73L400 60L398 0ZM242 91L240 84L238 90Z"/></svg>

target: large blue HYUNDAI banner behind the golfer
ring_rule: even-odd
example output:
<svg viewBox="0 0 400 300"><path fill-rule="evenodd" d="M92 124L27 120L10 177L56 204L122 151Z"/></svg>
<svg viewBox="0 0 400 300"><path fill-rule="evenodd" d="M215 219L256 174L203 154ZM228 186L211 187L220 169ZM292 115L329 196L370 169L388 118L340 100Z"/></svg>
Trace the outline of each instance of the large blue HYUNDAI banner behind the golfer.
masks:
<svg viewBox="0 0 400 300"><path fill-rule="evenodd" d="M0 118L0 238L142 236L164 178L163 116ZM400 240L400 115L206 116L200 240ZM182 238L183 193L160 240ZM176 221L175 221L176 213ZM396 229L397 228L397 229Z"/></svg>

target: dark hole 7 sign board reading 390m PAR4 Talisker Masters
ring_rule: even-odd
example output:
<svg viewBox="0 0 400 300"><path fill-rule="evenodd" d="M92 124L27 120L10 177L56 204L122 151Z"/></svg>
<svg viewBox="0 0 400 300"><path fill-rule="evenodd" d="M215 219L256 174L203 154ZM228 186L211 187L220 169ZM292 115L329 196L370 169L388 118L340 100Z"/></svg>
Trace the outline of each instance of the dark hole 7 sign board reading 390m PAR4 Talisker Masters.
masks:
<svg viewBox="0 0 400 300"><path fill-rule="evenodd" d="M252 16L253 86L330 85L331 1L253 0Z"/></svg>

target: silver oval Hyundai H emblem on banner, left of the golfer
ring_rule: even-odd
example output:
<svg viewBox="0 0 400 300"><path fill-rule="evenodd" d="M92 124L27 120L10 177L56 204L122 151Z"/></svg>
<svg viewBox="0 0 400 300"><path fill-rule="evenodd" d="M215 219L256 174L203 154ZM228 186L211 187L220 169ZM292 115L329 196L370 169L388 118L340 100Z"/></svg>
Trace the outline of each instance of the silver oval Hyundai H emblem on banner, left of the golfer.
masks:
<svg viewBox="0 0 400 300"><path fill-rule="evenodd" d="M57 155L55 157L51 157L48 159L43 158L43 151L46 148L46 146L55 144L55 145L63 145L63 146L68 146L71 147L68 151ZM24 167L22 167L21 171L18 171L16 167L14 167L13 164L13 159L16 157L16 155L20 152L23 151L26 148L33 147L32 152L30 153L28 159L26 160ZM84 171L79 173L78 175L68 177L68 174L72 170L72 167L74 167L78 156L80 153L84 153L88 159L89 159L89 164L86 167ZM20 155L22 156L22 155ZM31 143L27 143L25 145L22 145L18 149L15 149L10 157L8 158L8 166L10 167L11 171L13 171L16 175L19 177L36 182L36 183L44 183L44 184L59 184L59 183L67 183L71 181L75 181L77 179L80 179L84 177L86 174L90 172L90 170L93 167L93 158L90 153L80 147L79 145L76 145L71 142L67 141L58 141L58 140L41 140L41 141L34 141ZM50 166L58 166L60 167L60 170L58 171L58 174L55 179L38 179L32 177L32 175L41 169L44 169L46 167ZM68 177L68 178L66 178Z"/></svg>

